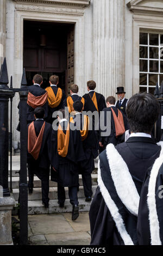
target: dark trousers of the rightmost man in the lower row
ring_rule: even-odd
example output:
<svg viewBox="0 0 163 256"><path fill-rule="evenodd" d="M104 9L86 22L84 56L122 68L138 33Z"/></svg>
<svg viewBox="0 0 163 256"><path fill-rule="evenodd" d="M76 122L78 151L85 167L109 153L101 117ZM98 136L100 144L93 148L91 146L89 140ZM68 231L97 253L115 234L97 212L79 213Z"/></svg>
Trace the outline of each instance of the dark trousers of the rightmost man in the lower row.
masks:
<svg viewBox="0 0 163 256"><path fill-rule="evenodd" d="M83 170L82 172L82 180L84 187L84 195L85 197L92 197L92 178L91 173L88 173Z"/></svg>

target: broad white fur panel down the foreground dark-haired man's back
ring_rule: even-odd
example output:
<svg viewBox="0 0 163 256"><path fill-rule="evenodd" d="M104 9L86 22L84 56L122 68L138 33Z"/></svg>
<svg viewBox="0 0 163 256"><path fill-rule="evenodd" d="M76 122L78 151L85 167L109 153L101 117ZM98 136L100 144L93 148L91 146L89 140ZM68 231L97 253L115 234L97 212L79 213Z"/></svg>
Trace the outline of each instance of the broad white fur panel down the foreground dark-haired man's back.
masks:
<svg viewBox="0 0 163 256"><path fill-rule="evenodd" d="M124 162L113 144L107 145L106 156L118 197L120 197L122 203L131 214L137 216L140 197L126 162Z"/></svg>

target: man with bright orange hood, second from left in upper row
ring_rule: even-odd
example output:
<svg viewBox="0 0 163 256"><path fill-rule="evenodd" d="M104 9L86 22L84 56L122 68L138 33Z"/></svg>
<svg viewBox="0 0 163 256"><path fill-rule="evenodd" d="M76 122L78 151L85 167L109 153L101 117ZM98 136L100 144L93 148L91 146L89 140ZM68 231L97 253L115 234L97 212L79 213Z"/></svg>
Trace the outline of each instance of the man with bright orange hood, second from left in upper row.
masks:
<svg viewBox="0 0 163 256"><path fill-rule="evenodd" d="M48 119L49 123L53 123L57 117L53 118L52 115L55 111L65 107L66 95L64 90L58 87L59 77L52 75L49 78L50 86L46 88L48 93Z"/></svg>

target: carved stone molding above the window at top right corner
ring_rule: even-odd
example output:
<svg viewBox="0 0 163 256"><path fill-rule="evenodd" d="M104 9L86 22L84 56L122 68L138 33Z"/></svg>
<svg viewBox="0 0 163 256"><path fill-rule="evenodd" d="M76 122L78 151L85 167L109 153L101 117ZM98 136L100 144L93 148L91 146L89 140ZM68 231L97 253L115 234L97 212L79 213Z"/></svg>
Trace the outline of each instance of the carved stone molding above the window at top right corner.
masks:
<svg viewBox="0 0 163 256"><path fill-rule="evenodd" d="M127 6L134 14L163 14L163 2L159 0L131 0Z"/></svg>

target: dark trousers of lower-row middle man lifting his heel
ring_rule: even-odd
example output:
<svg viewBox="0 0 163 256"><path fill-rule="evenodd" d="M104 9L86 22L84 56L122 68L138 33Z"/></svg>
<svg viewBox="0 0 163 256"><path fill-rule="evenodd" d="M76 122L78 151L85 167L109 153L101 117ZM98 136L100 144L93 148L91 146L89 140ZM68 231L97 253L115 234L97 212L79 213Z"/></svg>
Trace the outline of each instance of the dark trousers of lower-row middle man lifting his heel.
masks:
<svg viewBox="0 0 163 256"><path fill-rule="evenodd" d="M72 205L78 205L78 187L68 187L68 196L70 198L70 203ZM64 204L66 199L65 187L62 187L58 183L58 202L59 204Z"/></svg>

